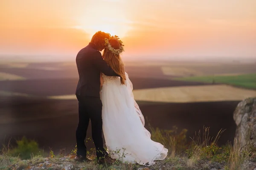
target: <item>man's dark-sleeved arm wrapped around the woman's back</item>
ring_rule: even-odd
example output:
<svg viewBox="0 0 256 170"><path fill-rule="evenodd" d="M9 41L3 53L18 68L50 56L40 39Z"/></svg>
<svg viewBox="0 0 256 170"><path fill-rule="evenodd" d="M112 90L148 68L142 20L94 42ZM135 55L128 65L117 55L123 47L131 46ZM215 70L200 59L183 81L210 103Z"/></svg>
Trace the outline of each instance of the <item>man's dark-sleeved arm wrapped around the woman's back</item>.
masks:
<svg viewBox="0 0 256 170"><path fill-rule="evenodd" d="M99 69L100 72L103 72L105 75L108 75L108 76L120 77L120 75L116 74L116 72L114 72L113 69L111 69L111 67L108 66L108 64L103 60L100 52L97 52L93 56L92 60L93 60L93 64L96 66L97 69Z"/></svg>

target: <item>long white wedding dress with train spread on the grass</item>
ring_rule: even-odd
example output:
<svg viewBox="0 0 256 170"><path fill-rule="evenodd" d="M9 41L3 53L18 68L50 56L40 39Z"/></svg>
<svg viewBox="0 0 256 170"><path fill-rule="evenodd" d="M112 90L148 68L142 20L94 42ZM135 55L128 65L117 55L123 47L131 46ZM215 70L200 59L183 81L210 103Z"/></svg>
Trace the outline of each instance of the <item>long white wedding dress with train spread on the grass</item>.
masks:
<svg viewBox="0 0 256 170"><path fill-rule="evenodd" d="M102 74L101 91L103 133L109 155L123 162L143 165L166 158L168 149L151 140L145 120L134 100L132 83L126 75L125 85L120 78Z"/></svg>

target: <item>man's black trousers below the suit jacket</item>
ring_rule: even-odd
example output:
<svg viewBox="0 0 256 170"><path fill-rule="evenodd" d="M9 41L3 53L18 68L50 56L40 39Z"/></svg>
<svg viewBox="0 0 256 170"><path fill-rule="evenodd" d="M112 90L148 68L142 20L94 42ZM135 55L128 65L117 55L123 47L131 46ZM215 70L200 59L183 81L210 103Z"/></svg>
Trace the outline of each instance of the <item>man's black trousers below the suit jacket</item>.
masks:
<svg viewBox="0 0 256 170"><path fill-rule="evenodd" d="M97 158L105 157L106 150L102 139L102 101L97 97L76 95L79 101L79 124L76 130L77 156L86 156L87 149L84 144L86 133L91 120L92 137L96 147Z"/></svg>

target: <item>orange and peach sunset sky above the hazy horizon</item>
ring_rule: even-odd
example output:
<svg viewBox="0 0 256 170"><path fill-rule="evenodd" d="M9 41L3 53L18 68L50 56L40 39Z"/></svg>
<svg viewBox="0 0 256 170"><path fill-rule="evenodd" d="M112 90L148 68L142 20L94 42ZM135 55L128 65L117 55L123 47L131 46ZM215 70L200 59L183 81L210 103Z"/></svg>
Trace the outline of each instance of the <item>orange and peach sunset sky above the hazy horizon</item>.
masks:
<svg viewBox="0 0 256 170"><path fill-rule="evenodd" d="M0 55L73 60L99 30L124 58L256 57L256 0L0 0Z"/></svg>

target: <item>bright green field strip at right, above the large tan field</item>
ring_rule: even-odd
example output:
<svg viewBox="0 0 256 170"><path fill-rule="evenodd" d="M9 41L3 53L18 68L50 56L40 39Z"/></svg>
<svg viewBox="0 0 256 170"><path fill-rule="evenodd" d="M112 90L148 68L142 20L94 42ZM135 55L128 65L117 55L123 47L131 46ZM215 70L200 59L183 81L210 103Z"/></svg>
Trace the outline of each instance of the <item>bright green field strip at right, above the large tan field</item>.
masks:
<svg viewBox="0 0 256 170"><path fill-rule="evenodd" d="M227 76L195 76L195 77L184 77L177 78L182 81L199 81L206 83L221 83L233 86L239 86L247 89L256 89L256 74L245 74L245 75L227 75Z"/></svg>

